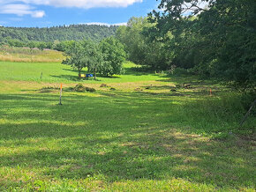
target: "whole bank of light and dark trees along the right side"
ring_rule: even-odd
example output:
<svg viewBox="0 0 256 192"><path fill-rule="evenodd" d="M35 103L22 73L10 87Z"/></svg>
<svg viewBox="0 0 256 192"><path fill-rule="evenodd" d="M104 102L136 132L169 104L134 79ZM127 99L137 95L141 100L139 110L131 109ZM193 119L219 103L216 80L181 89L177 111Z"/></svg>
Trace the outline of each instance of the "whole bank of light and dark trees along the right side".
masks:
<svg viewBox="0 0 256 192"><path fill-rule="evenodd" d="M147 18L117 30L129 59L154 70L173 66L203 77L256 85L255 0L162 0Z"/></svg>

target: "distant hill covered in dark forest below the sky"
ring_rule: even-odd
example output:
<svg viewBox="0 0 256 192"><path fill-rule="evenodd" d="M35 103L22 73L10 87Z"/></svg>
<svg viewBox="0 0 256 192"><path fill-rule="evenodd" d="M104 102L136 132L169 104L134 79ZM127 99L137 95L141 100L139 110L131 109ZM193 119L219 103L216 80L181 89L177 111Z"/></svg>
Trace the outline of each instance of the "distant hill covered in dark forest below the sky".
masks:
<svg viewBox="0 0 256 192"><path fill-rule="evenodd" d="M71 25L53 27L4 27L0 26L0 42L19 41L79 41L91 39L101 41L114 35L118 26Z"/></svg>

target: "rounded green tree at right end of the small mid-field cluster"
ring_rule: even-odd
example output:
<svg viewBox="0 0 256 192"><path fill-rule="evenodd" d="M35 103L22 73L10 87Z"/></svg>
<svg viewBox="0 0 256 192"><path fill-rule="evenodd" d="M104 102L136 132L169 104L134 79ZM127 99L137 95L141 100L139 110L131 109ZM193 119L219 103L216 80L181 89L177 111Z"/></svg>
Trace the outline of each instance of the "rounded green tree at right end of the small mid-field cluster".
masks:
<svg viewBox="0 0 256 192"><path fill-rule="evenodd" d="M124 45L116 38L109 37L102 40L100 48L104 57L102 74L105 76L121 74L126 56Z"/></svg>

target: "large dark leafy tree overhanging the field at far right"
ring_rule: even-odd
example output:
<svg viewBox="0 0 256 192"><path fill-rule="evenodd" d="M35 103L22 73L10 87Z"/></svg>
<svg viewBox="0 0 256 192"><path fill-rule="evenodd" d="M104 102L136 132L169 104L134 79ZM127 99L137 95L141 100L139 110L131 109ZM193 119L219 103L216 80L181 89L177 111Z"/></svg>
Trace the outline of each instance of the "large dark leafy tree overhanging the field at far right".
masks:
<svg viewBox="0 0 256 192"><path fill-rule="evenodd" d="M150 34L171 42L176 62L191 54L201 73L255 86L255 0L162 0L159 10L149 14Z"/></svg>

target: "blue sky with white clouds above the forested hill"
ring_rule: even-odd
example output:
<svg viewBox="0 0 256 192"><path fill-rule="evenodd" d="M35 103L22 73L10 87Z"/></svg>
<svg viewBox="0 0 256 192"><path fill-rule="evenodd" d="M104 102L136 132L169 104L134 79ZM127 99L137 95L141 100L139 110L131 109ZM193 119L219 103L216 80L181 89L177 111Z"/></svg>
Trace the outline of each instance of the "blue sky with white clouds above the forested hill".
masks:
<svg viewBox="0 0 256 192"><path fill-rule="evenodd" d="M156 0L0 0L1 26L123 24L147 16Z"/></svg>

